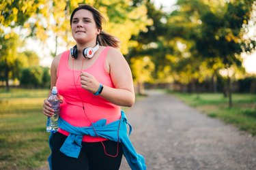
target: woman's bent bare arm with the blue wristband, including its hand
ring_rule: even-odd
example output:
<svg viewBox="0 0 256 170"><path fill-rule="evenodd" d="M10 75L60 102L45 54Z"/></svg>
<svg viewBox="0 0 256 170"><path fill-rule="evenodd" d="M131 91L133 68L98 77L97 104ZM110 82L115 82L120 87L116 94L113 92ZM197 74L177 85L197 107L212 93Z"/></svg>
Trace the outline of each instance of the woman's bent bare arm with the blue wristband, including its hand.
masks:
<svg viewBox="0 0 256 170"><path fill-rule="evenodd" d="M110 48L106 58L106 70L111 75L115 88L103 85L101 97L115 105L131 107L135 101L132 73L124 56L115 48ZM89 73L81 73L82 88L96 92L100 83Z"/></svg>

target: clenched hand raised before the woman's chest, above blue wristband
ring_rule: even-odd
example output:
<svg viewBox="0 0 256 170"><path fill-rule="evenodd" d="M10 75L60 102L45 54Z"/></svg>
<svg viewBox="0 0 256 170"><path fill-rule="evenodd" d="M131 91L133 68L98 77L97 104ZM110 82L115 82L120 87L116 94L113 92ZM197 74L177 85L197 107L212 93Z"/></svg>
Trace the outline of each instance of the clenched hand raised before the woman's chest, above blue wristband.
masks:
<svg viewBox="0 0 256 170"><path fill-rule="evenodd" d="M97 92L100 83L94 78L94 75L91 75L87 72L81 71L81 87L89 92L95 93Z"/></svg>

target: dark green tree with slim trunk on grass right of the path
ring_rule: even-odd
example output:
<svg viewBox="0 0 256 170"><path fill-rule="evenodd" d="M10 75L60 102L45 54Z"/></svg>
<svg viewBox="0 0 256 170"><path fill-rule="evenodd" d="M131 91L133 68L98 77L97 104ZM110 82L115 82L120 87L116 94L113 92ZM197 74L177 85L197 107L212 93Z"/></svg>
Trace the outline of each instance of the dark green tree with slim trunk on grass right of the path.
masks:
<svg viewBox="0 0 256 170"><path fill-rule="evenodd" d="M252 52L256 45L253 40L244 39L244 28L251 18L252 7L253 1L229 1L222 7L222 15L218 11L210 10L201 15L202 33L205 36L198 39L197 48L203 56L221 58L223 61L223 66L227 70L229 107L232 107L232 99L231 78L228 72L231 67L242 67L240 54L243 50ZM243 48L244 44L252 46Z"/></svg>

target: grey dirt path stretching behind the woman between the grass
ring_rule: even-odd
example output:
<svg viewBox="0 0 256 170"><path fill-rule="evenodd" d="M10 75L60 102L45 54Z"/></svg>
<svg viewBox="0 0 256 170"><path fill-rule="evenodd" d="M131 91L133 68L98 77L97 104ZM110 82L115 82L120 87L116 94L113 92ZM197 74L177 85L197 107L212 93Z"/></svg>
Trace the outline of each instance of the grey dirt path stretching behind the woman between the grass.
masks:
<svg viewBox="0 0 256 170"><path fill-rule="evenodd" d="M171 95L149 91L126 116L147 169L256 169L256 137L208 118ZM123 159L121 170L130 169Z"/></svg>

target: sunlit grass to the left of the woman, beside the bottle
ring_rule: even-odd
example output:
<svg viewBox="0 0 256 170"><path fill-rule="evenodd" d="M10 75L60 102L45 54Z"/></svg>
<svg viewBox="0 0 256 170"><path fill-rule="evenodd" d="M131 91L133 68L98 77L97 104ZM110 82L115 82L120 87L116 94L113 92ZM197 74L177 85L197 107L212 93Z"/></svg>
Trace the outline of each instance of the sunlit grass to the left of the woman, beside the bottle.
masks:
<svg viewBox="0 0 256 170"><path fill-rule="evenodd" d="M48 90L0 89L0 169L35 169L50 154L43 100Z"/></svg>

